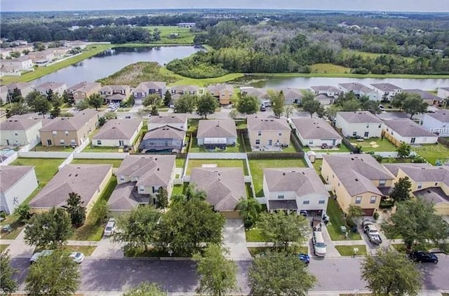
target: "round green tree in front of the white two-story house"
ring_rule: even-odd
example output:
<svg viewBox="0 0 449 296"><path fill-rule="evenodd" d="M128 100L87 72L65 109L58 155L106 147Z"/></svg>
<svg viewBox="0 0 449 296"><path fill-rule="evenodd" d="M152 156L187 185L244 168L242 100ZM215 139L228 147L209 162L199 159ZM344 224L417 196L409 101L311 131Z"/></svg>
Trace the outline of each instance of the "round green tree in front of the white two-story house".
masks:
<svg viewBox="0 0 449 296"><path fill-rule="evenodd" d="M297 246L306 241L310 229L309 220L304 216L283 212L262 213L256 225L267 241L286 251L290 242Z"/></svg>

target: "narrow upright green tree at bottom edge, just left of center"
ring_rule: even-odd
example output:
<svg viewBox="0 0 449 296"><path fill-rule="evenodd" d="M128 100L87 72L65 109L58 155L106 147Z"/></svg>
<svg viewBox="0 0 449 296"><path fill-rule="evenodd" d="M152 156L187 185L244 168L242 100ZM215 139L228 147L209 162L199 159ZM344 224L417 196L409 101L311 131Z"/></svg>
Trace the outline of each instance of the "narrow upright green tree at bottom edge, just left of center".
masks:
<svg viewBox="0 0 449 296"><path fill-rule="evenodd" d="M229 250L212 243L203 250L203 255L194 255L200 277L196 292L224 296L237 288L237 264L226 259L228 254Z"/></svg>

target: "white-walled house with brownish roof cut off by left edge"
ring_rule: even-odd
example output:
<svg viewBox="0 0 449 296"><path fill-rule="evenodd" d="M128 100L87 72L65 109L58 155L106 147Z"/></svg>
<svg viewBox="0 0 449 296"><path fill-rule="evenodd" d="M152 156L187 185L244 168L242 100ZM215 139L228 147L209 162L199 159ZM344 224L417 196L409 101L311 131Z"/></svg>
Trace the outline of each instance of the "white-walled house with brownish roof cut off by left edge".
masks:
<svg viewBox="0 0 449 296"><path fill-rule="evenodd" d="M33 166L0 166L0 211L11 215L36 188Z"/></svg>

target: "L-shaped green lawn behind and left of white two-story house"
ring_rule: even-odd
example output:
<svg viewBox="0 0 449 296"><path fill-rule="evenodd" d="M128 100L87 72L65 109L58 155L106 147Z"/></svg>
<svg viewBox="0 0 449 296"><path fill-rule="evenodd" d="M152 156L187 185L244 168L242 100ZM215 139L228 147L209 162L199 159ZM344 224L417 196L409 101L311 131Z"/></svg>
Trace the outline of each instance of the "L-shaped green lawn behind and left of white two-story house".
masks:
<svg viewBox="0 0 449 296"><path fill-rule="evenodd" d="M263 196L264 168L305 168L304 159L251 159L249 161L255 196Z"/></svg>

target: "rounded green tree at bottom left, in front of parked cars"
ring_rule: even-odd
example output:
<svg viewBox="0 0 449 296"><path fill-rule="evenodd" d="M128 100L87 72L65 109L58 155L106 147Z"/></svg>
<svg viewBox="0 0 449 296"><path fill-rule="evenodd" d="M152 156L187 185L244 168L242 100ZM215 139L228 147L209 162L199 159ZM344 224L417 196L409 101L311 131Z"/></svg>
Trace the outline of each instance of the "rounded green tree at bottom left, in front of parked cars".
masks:
<svg viewBox="0 0 449 296"><path fill-rule="evenodd" d="M74 295L81 281L78 268L72 257L60 251L41 256L29 268L26 290L29 295Z"/></svg>

